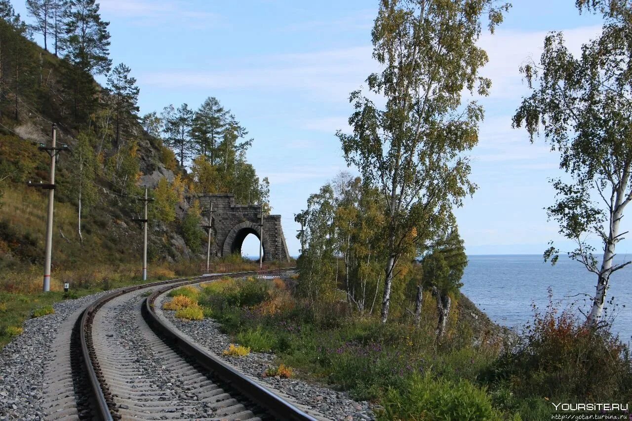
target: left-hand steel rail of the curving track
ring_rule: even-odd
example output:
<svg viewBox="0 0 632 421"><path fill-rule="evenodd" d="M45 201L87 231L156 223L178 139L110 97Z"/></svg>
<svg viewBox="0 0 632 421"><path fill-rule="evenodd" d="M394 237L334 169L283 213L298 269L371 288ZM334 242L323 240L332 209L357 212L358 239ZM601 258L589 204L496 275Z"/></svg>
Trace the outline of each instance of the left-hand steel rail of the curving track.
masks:
<svg viewBox="0 0 632 421"><path fill-rule="evenodd" d="M279 269L278 271L268 271L268 272L280 272L280 271L292 271L292 270L296 270L296 268L291 267L287 269ZM97 356L95 355L94 349L92 347L92 331L90 327L92 324L92 320L94 319L94 315L96 314L96 312L99 310L100 307L102 307L105 303L109 302L110 300L118 296L124 295L126 293L130 293L132 291L141 290L143 288L152 288L153 286L167 285L167 288L164 288L164 290L169 290L171 288L176 288L178 286L182 286L186 284L199 283L205 280L212 281L214 279L221 279L224 276L230 276L230 277L236 278L236 277L241 277L241 276L257 275L260 273L261 272L259 271L233 272L233 273L227 273L227 274L202 275L202 276L194 276L194 277L188 277L188 278L169 279L167 281L158 281L158 282L153 282L153 283L140 284L136 286L130 286L127 288L121 288L121 290L117 290L107 295L104 295L101 298L95 300L92 304L90 304L90 306L87 307L83 311L82 315L80 316L81 320L79 324L79 335L80 335L80 343L81 343L81 348L82 348L81 352L83 356L84 369L87 374L88 385L90 389L89 394L90 394L90 397L92 398L92 402L94 403L92 406L95 412L94 414L95 418L99 420L104 420L104 421L113 421L114 418L119 418L119 416L117 416L118 414L116 414L116 410L114 409L115 404L111 399L111 394L109 393L107 389L107 384L101 375L99 361L97 360ZM154 295L155 293L152 294L152 296ZM145 306L143 305L143 308L144 307ZM202 365L204 365L204 363ZM221 370L221 369L218 369L218 370ZM222 376L220 377L222 378ZM243 377L243 375L241 375L241 377ZM233 377L233 379L236 379L236 378ZM244 393L244 391L242 391L241 389L240 391ZM269 391L267 391L267 389L265 389L265 391L267 393L270 393ZM244 393L244 394L248 398L250 398L248 393ZM280 398L278 397L277 399L280 400ZM258 400L254 400L254 401L259 403ZM300 412L300 410L298 410L291 404L286 403L286 405L291 406L291 408L294 408L297 412ZM264 406L264 405L262 406L267 409L267 406ZM296 419L296 420L314 420L315 419L315 418L309 417L309 415L307 414L304 414L304 415L307 418L294 417L294 418L286 418L286 419ZM281 418L281 419L284 419L284 418Z"/></svg>

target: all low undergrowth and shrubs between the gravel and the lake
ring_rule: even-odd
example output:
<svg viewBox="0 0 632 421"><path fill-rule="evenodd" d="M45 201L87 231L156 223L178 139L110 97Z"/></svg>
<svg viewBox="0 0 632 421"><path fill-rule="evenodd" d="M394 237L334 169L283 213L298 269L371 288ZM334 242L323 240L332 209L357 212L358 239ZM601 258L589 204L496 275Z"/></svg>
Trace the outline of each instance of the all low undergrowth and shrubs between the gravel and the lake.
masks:
<svg viewBox="0 0 632 421"><path fill-rule="evenodd" d="M437 345L425 300L422 324L384 325L349 315L342 300L311 302L281 281L222 279L199 297L240 345L276 353L300 377L336 384L384 406L380 419L542 420L549 400L629 400L629 351L570 312L538 314L523 341L500 353L498 341L473 346L471 326L455 310ZM456 307L456 306L455 306Z"/></svg>

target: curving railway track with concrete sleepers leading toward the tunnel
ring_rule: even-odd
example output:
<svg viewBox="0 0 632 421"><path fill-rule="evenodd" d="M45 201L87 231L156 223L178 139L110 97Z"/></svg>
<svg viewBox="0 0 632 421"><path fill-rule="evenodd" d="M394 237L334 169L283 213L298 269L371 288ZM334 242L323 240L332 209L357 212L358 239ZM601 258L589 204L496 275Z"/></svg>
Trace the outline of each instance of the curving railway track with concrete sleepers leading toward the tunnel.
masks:
<svg viewBox="0 0 632 421"><path fill-rule="evenodd" d="M71 359L56 355L62 363L49 370L46 419L315 420L154 313L162 293L223 276L125 288L88 305L73 329L61 329Z"/></svg>

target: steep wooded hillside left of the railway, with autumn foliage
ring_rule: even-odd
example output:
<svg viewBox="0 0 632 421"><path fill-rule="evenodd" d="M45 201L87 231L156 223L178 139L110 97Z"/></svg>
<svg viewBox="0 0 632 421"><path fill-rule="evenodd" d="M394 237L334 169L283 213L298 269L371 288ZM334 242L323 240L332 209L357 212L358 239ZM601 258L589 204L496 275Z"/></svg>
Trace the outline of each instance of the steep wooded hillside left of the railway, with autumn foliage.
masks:
<svg viewBox="0 0 632 421"><path fill-rule="evenodd" d="M98 12L98 4L96 8ZM140 272L142 229L133 218L142 216L142 202L137 198L143 194L143 185L155 199L149 208L148 247L154 275L165 270L159 265L169 265L176 272L182 265L188 267L183 272L197 267L205 234L200 228L204 210L198 207L195 193L238 193L233 185L241 179L258 183L245 161L245 149L252 140L236 143L247 132L222 110L227 121L221 127L226 142L226 146L222 143L222 152L226 150L222 169L226 173L229 165L239 167L243 171L228 172L235 178L243 176L240 180L212 176L220 165L217 152L217 162L212 161L213 150L219 146L194 148L192 125L197 122L198 129L204 128L203 108L195 113L186 110L190 127L186 138L184 134L178 138L179 120L173 106L174 114L162 119L155 113L138 116L139 88L124 64L99 72L97 64L84 63L87 52L82 56L68 46L65 56L58 57L28 38L25 23L8 2L0 2L0 15L0 289L36 290L41 282L48 196L46 190L27 186L27 181L49 182L50 157L37 147L50 145L52 122L57 125L58 144L65 143L72 151L61 152L57 162L53 288L59 290L64 281L105 279L97 274L109 272L105 268L122 266L128 272L133 268L132 274ZM95 53L90 54L88 61ZM107 59L107 48L102 54L100 59ZM93 75L99 73L107 74L106 87L95 81ZM150 135L141 121L157 130ZM190 148L186 157L185 141ZM179 162L178 150L182 152ZM187 164L195 176L187 173ZM209 180L223 184L212 185ZM248 200L263 197L258 185L254 192L252 182L246 188L250 189ZM242 200L245 197L243 193ZM86 279L93 277L97 281ZM25 282L33 287L25 288Z"/></svg>

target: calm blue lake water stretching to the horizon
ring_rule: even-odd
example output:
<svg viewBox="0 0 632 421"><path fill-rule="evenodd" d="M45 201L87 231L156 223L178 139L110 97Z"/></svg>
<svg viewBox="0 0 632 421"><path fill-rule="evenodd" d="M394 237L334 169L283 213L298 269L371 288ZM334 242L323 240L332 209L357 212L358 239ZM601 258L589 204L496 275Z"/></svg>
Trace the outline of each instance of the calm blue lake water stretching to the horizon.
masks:
<svg viewBox="0 0 632 421"><path fill-rule="evenodd" d="M621 256L619 262L630 256ZM616 318L612 332L632 341L632 265L614 273L606 300L614 296ZM463 274L461 291L498 324L520 327L533 319L532 303L544 309L549 303L550 286L555 300L578 301L588 308L588 293L593 296L597 276L579 262L560 256L555 266L545 263L542 255L471 255ZM625 306L625 307L623 307ZM612 308L612 305L607 305Z"/></svg>

